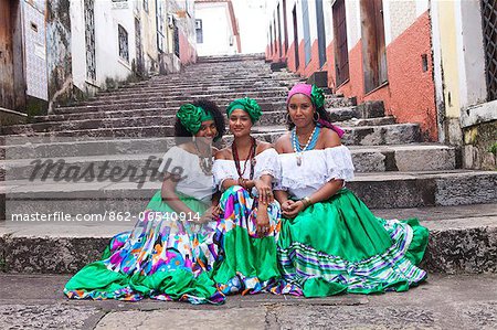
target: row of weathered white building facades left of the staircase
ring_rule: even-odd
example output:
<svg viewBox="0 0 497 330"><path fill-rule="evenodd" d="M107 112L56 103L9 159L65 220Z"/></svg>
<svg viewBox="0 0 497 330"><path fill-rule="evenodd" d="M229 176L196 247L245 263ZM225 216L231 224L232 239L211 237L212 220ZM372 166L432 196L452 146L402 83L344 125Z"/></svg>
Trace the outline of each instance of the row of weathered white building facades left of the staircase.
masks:
<svg viewBox="0 0 497 330"><path fill-rule="evenodd" d="M177 72L194 33L193 0L0 0L0 107L34 115Z"/></svg>

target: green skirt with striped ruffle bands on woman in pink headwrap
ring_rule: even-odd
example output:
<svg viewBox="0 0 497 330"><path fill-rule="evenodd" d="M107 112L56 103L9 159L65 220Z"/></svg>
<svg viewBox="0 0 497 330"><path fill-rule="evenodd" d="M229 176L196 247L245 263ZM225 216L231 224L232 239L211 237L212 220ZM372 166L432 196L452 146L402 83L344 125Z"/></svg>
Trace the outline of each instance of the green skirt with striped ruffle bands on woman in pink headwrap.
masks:
<svg viewBox="0 0 497 330"><path fill-rule="evenodd" d="M377 217L341 189L282 221L277 258L284 279L306 297L405 291L426 278L416 265L427 237L417 220Z"/></svg>

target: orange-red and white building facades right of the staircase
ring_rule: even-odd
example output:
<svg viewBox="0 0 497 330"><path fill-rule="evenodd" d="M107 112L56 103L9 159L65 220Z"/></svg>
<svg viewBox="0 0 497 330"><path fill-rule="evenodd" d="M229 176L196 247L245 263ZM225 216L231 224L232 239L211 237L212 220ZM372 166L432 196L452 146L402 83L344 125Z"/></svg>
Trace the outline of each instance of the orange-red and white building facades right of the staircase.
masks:
<svg viewBox="0 0 497 330"><path fill-rule="evenodd" d="M383 100L400 123L420 123L425 140L464 145L466 166L485 162L472 159L488 156L491 139L479 151L467 146L478 127L496 140L495 1L278 0L267 9L269 61L326 76L358 103Z"/></svg>

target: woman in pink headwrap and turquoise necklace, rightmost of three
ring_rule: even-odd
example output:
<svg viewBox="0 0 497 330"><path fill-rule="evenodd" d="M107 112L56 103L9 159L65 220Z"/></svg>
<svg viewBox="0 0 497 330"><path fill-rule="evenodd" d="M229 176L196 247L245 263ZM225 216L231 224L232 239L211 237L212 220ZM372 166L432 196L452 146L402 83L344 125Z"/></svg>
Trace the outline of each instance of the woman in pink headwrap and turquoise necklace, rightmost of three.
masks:
<svg viewBox="0 0 497 330"><path fill-rule="evenodd" d="M306 297L403 291L426 278L417 265L427 230L417 220L376 217L349 190L353 178L343 131L329 123L322 91L298 84L287 98L290 131L276 141L275 196L283 221L277 245L287 284Z"/></svg>

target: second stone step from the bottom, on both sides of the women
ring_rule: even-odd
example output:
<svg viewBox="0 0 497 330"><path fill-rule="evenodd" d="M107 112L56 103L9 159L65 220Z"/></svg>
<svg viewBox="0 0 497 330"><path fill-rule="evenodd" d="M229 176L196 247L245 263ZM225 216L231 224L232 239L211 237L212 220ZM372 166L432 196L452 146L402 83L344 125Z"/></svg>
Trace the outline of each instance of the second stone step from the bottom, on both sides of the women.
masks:
<svg viewBox="0 0 497 330"><path fill-rule="evenodd" d="M65 213L140 212L160 189L161 178L139 177L142 173L137 171L136 177L120 180L127 168L120 170L119 175L88 182L72 182L72 177L4 181L0 188L1 214L10 219L11 214L50 213L53 210ZM357 173L347 187L373 209L497 203L497 172L491 171Z"/></svg>

